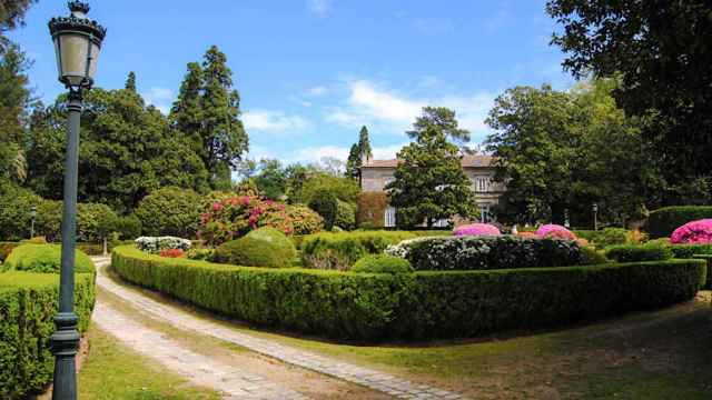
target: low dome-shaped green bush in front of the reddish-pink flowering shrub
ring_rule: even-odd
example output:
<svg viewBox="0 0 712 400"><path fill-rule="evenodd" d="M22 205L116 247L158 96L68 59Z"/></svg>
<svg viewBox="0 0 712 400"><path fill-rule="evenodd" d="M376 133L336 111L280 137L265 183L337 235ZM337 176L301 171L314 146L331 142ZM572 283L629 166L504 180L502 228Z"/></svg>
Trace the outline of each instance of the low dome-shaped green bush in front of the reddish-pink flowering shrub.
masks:
<svg viewBox="0 0 712 400"><path fill-rule="evenodd" d="M224 243L212 259L234 266L280 268L290 267L295 257L295 247L284 233L274 228L260 228Z"/></svg>

